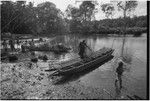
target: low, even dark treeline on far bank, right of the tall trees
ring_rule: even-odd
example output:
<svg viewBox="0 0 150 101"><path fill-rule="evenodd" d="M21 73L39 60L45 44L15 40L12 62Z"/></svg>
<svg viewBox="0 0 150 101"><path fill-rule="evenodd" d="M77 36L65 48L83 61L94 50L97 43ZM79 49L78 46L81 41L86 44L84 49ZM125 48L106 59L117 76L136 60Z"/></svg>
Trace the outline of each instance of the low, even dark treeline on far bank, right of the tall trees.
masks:
<svg viewBox="0 0 150 101"><path fill-rule="evenodd" d="M125 34L141 35L147 32L147 16L139 16L134 18L127 18L125 23L124 19L104 19L100 21L86 22L87 26L78 24L72 27L72 33L84 34L122 34L124 26L126 26Z"/></svg>

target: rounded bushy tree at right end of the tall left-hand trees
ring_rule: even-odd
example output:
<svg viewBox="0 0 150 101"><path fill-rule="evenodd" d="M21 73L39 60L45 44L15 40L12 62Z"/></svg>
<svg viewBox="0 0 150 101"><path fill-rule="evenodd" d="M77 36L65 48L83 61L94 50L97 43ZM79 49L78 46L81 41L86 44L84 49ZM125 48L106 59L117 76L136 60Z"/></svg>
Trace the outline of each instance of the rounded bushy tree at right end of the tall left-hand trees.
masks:
<svg viewBox="0 0 150 101"><path fill-rule="evenodd" d="M38 25L43 33L59 33L63 28L63 14L51 2L37 5Z"/></svg>

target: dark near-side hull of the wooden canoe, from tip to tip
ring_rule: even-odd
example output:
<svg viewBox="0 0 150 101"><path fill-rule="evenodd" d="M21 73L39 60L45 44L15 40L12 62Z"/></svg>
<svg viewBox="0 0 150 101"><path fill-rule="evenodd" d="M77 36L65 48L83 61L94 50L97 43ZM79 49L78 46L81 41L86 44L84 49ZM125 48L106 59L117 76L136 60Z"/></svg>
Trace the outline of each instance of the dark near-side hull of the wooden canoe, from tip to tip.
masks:
<svg viewBox="0 0 150 101"><path fill-rule="evenodd" d="M107 54L105 54L101 57L95 58L95 59L93 59L93 61L87 62L87 63L80 65L78 67L75 67L75 68L71 68L68 70L58 70L53 75L69 75L69 74L74 74L74 73L81 72L83 70L92 68L93 66L100 64L101 62L104 62L105 60L109 59L112 56L113 52L114 52L114 50L111 50Z"/></svg>

